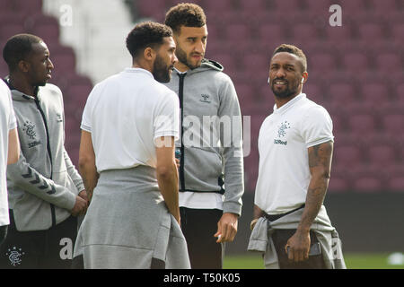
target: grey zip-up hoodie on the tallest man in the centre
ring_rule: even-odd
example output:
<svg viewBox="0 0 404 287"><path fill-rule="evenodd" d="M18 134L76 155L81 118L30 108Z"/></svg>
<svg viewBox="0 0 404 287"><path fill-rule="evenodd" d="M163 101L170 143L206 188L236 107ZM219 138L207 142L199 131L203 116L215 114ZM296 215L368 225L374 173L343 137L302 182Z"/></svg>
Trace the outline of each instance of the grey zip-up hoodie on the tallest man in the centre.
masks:
<svg viewBox="0 0 404 287"><path fill-rule="evenodd" d="M224 213L242 213L242 115L223 66L204 59L166 85L180 98L180 192L224 194Z"/></svg>

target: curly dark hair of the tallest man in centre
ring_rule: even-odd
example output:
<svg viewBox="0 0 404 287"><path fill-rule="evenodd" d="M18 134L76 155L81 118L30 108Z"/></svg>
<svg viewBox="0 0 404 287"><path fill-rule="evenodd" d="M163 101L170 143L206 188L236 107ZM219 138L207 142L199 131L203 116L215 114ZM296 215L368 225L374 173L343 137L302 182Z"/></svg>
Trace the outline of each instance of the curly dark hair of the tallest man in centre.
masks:
<svg viewBox="0 0 404 287"><path fill-rule="evenodd" d="M198 4L180 3L165 14L165 24L180 33L180 27L197 27L206 25L206 15Z"/></svg>

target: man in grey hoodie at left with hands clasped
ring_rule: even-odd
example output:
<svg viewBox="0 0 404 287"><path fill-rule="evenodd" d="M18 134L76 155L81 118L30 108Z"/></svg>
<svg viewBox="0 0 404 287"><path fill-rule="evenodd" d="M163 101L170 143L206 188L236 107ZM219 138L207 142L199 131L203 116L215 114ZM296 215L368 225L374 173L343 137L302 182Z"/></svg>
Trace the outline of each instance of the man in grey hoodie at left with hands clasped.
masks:
<svg viewBox="0 0 404 287"><path fill-rule="evenodd" d="M8 39L3 57L21 155L7 167L10 225L0 268L68 268L77 218L87 209L83 180L65 150L62 92L47 83L53 64L37 36Z"/></svg>

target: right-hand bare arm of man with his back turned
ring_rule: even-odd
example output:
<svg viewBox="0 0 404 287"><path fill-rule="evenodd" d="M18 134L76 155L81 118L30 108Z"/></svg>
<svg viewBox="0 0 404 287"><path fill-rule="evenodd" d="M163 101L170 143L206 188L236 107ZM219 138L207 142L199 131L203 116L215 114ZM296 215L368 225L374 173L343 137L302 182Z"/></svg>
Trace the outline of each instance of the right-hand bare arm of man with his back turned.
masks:
<svg viewBox="0 0 404 287"><path fill-rule="evenodd" d="M167 138L161 137L160 141L161 143L169 144L156 147L155 149L157 155L157 182L168 210L177 222L180 223L178 170L174 156L174 138L170 136L167 140Z"/></svg>

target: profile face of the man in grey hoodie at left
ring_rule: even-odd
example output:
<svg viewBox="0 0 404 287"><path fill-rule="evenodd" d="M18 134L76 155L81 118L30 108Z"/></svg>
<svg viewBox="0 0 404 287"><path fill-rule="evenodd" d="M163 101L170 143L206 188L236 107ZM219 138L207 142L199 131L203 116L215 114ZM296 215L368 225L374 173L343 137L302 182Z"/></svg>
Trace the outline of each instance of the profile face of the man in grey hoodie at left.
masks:
<svg viewBox="0 0 404 287"><path fill-rule="evenodd" d="M32 44L31 53L26 60L30 65L28 75L32 86L44 86L51 78L54 66L49 56L48 47L44 42Z"/></svg>

